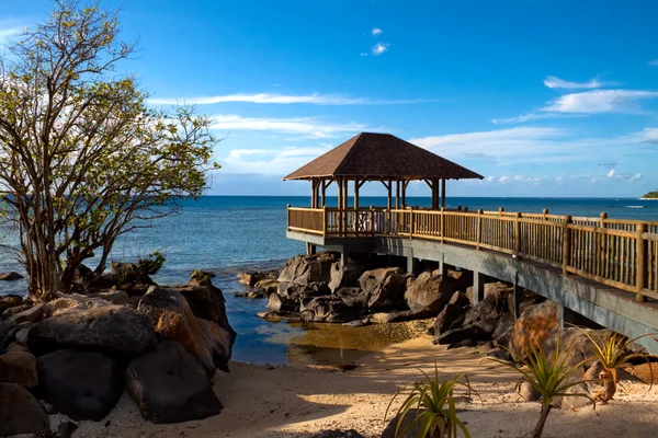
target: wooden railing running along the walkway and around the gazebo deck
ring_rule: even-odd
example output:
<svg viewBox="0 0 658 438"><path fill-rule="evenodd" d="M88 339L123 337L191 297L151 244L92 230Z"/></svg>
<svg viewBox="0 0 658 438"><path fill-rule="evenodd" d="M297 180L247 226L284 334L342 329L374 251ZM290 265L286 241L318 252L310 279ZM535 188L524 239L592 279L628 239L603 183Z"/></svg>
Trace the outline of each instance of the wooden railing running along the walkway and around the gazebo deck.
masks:
<svg viewBox="0 0 658 438"><path fill-rule="evenodd" d="M658 221L499 211L288 207L288 230L326 238L402 237L545 263L658 299Z"/></svg>

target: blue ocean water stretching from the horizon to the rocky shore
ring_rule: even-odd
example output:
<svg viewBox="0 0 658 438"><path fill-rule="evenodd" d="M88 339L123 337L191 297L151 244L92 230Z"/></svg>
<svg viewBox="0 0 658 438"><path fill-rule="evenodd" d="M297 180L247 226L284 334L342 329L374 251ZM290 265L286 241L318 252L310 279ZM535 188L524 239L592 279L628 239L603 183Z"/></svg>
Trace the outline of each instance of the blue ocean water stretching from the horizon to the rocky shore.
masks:
<svg viewBox="0 0 658 438"><path fill-rule="evenodd" d="M236 274L241 270L280 267L305 251L304 243L285 238L286 205L305 207L307 196L204 196L181 204L180 214L152 223L151 228L125 234L116 243L112 260L132 262L159 250L167 257L154 276L162 285L185 284L194 269L213 270L215 286L227 300L228 318L238 332L234 359L280 365L291 360L291 344L304 344L305 328L287 323L271 323L257 316L264 300L234 297L242 291ZM329 198L336 205L336 199ZM385 206L384 197L362 197L361 206ZM430 198L408 197L410 206L429 207ZM610 218L658 220L658 201L636 198L488 198L449 197L446 206L508 211L541 212ZM11 231L0 228L0 243L15 243ZM92 263L88 263L92 266ZM0 250L0 273L22 272L7 251ZM24 295L26 283L0 281L0 295ZM344 351L337 354L343 355Z"/></svg>

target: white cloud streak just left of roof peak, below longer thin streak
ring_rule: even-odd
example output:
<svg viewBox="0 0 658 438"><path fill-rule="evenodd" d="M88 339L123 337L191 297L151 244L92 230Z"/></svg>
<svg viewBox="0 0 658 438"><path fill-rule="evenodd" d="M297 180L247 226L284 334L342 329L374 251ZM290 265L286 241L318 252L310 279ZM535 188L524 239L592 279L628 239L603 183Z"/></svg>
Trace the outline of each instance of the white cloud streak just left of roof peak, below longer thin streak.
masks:
<svg viewBox="0 0 658 438"><path fill-rule="evenodd" d="M215 115L212 117L212 129L225 130L268 130L276 132L298 134L313 138L333 138L337 134L359 132L366 130L365 125L326 124L316 118L273 118L242 117L239 115Z"/></svg>

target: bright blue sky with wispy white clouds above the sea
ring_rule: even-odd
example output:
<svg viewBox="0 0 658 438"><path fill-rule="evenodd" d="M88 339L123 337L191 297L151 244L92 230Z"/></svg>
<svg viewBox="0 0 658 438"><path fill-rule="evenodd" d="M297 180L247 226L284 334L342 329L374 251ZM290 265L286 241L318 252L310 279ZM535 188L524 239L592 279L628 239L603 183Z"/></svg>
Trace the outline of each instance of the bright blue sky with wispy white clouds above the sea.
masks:
<svg viewBox="0 0 658 438"><path fill-rule="evenodd" d="M0 41L52 9L1 1ZM211 194L306 195L308 183L282 176L364 130L486 176L453 182L449 195L658 188L658 2L106 4L123 4L122 35L141 50L122 67L151 104L194 103L226 136Z"/></svg>

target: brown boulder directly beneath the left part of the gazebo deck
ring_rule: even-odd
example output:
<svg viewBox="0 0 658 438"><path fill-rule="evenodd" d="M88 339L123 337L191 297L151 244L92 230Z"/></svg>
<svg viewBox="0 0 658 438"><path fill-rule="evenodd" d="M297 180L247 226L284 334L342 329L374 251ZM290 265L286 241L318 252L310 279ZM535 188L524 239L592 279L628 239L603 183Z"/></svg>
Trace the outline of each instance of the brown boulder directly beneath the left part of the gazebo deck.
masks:
<svg viewBox="0 0 658 438"><path fill-rule="evenodd" d="M306 286L310 283L331 281L331 267L339 260L338 253L322 251L313 255L297 255L286 262L279 274L280 283Z"/></svg>

